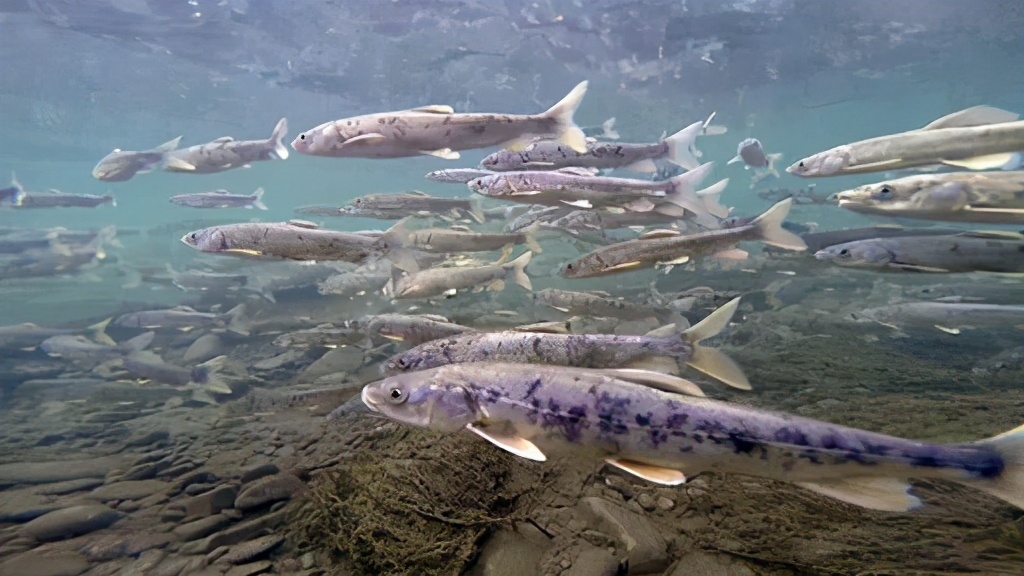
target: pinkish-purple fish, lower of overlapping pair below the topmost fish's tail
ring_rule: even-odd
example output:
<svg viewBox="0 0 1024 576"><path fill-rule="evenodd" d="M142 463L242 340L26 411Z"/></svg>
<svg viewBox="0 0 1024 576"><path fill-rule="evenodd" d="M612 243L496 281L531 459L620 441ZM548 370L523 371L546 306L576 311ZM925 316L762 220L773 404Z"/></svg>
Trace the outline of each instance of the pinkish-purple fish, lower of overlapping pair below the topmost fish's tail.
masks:
<svg viewBox="0 0 1024 576"><path fill-rule="evenodd" d="M502 172L471 180L467 186L488 198L541 206L618 208L676 217L689 213L713 220L715 215L727 215L728 211L716 201L706 203L695 192L712 167L709 162L666 182L592 176L563 168L551 172Z"/></svg>

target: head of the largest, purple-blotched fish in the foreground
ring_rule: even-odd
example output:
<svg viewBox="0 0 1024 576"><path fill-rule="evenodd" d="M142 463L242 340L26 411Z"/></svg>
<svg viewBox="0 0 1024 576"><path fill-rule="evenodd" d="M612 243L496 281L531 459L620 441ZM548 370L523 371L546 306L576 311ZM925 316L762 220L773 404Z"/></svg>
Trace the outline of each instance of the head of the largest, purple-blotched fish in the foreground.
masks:
<svg viewBox="0 0 1024 576"><path fill-rule="evenodd" d="M449 368L449 367L444 367ZM384 416L419 427L457 431L479 421L470 390L446 369L397 374L362 387L362 403Z"/></svg>

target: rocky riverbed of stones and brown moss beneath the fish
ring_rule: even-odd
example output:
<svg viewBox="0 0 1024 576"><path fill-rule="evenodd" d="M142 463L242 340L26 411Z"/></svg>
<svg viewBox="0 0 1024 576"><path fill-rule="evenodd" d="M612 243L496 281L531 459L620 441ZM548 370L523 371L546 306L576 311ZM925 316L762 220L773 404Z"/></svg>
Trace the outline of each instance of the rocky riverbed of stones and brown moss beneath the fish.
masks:
<svg viewBox="0 0 1024 576"><path fill-rule="evenodd" d="M771 324L752 317L729 335L742 344L727 349L753 396L706 389L934 442L1024 420L1021 363L989 362L984 342L795 330L808 320L790 314L788 324L784 310ZM313 407L252 396L204 407L159 387L27 384L7 389L3 408L2 576L1016 576L1024 567L1022 511L946 483L915 482L927 505L885 513L758 479L699 475L663 488L607 467L516 459L468 434L322 417L357 388Z"/></svg>

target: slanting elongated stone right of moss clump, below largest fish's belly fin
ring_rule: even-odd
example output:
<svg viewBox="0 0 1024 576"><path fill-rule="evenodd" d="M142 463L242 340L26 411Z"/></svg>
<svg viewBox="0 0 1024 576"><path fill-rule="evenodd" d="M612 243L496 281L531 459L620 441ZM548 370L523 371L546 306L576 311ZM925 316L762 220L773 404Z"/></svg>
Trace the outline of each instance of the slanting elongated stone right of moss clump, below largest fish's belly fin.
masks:
<svg viewBox="0 0 1024 576"><path fill-rule="evenodd" d="M583 513L593 516L597 530L623 543L631 572L656 573L669 567L669 543L649 520L595 496L583 498L581 505Z"/></svg>

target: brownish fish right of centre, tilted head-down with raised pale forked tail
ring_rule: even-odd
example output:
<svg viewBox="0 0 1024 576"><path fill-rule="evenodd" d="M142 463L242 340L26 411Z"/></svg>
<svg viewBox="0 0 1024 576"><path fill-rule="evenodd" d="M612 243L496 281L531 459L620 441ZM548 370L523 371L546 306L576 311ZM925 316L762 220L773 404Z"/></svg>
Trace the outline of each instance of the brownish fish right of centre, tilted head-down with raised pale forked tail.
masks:
<svg viewBox="0 0 1024 576"><path fill-rule="evenodd" d="M562 266L562 278L590 278L617 274L656 264L684 263L691 258L717 254L723 258L742 259L746 253L735 249L737 242L760 240L785 250L806 250L797 235L782 228L793 200L783 200L750 223L731 229L712 230L682 236L675 231L654 231L636 240L597 248Z"/></svg>

